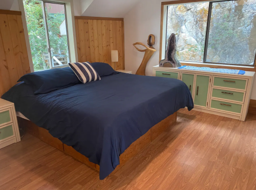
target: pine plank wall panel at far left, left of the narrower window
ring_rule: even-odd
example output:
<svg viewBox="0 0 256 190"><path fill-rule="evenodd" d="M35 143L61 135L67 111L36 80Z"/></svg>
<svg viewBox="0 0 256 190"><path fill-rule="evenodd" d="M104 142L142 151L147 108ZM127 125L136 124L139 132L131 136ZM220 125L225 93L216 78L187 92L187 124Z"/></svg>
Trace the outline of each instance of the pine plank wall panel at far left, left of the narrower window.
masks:
<svg viewBox="0 0 256 190"><path fill-rule="evenodd" d="M0 97L30 73L21 15L19 11L0 10Z"/></svg>

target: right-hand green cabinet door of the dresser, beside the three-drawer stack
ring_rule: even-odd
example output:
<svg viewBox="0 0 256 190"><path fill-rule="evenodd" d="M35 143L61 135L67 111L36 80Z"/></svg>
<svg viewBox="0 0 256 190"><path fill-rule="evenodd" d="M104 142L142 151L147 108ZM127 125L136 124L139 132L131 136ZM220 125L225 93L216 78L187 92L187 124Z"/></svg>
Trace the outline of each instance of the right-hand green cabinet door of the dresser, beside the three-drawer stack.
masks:
<svg viewBox="0 0 256 190"><path fill-rule="evenodd" d="M210 75L196 75L195 105L207 107L209 83Z"/></svg>

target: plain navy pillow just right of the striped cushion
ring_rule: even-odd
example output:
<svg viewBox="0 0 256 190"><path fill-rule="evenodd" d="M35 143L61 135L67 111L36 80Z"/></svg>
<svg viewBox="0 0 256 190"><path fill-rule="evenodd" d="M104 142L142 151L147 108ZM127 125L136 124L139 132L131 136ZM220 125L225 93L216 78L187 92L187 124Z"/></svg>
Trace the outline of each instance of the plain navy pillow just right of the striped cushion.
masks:
<svg viewBox="0 0 256 190"><path fill-rule="evenodd" d="M109 64L107 63L101 63L101 62L95 62L91 63L93 68L97 71L100 77L102 76L108 76L113 74L118 74L119 72L116 72Z"/></svg>

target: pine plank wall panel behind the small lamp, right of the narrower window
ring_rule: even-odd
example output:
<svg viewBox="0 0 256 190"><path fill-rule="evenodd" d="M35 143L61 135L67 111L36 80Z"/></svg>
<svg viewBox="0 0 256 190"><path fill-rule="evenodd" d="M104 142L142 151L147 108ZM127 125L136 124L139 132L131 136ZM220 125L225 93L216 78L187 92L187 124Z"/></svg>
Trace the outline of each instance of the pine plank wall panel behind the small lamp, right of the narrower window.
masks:
<svg viewBox="0 0 256 190"><path fill-rule="evenodd" d="M124 69L123 18L75 17L79 62L111 62L111 50L118 50L116 70Z"/></svg>

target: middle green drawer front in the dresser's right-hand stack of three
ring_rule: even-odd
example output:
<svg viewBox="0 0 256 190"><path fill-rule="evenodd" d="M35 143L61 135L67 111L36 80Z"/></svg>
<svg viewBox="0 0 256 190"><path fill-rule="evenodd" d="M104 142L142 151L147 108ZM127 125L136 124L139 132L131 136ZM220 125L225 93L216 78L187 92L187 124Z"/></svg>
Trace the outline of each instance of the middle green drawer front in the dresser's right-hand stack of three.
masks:
<svg viewBox="0 0 256 190"><path fill-rule="evenodd" d="M243 102L244 93L229 90L212 89L211 97Z"/></svg>

